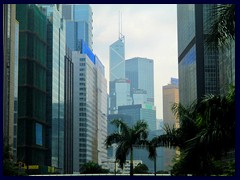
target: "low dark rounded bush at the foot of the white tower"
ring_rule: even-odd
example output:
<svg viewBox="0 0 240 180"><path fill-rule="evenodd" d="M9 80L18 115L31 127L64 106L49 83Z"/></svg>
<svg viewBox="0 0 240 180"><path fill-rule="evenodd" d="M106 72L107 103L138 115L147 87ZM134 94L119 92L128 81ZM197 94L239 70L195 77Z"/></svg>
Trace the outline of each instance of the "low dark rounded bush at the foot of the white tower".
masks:
<svg viewBox="0 0 240 180"><path fill-rule="evenodd" d="M93 161L83 164L79 171L81 174L109 173L109 170L103 169L98 163Z"/></svg>

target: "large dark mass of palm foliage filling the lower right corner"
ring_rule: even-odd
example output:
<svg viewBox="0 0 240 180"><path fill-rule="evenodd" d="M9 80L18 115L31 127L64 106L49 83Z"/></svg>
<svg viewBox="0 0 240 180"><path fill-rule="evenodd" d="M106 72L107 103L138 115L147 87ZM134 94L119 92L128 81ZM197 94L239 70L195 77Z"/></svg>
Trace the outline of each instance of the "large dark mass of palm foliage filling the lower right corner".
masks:
<svg viewBox="0 0 240 180"><path fill-rule="evenodd" d="M215 162L235 148L235 88L226 96L205 95L188 108L173 109L180 115L180 128L165 126L166 133L158 137L158 146L181 150L173 173L219 174Z"/></svg>

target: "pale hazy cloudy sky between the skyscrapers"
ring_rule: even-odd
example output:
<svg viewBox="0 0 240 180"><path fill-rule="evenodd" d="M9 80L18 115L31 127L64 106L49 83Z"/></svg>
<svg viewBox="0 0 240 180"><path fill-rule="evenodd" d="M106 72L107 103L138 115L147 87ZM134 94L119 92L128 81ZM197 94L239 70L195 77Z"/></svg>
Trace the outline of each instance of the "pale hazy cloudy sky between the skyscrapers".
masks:
<svg viewBox="0 0 240 180"><path fill-rule="evenodd" d="M109 46L118 40L119 11L125 36L125 58L154 60L157 118L162 119L162 86L178 78L177 6L167 4L91 4L93 51L105 66L109 80Z"/></svg>

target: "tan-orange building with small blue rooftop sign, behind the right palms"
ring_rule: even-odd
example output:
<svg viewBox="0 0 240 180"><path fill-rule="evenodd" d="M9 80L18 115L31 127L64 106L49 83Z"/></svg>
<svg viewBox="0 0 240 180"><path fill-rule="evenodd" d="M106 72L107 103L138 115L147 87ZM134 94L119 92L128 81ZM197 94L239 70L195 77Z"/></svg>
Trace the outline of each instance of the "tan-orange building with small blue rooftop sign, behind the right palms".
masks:
<svg viewBox="0 0 240 180"><path fill-rule="evenodd" d="M179 90L176 79L171 79L171 83L163 86L163 122L170 127L179 127L179 119L173 114L172 106L179 103Z"/></svg>

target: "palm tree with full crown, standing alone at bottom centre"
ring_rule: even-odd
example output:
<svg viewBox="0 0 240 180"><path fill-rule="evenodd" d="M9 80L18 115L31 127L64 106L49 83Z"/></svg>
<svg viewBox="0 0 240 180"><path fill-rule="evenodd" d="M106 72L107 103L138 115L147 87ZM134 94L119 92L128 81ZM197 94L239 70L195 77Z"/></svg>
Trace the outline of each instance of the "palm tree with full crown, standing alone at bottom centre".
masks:
<svg viewBox="0 0 240 180"><path fill-rule="evenodd" d="M126 162L126 157L130 153L130 176L133 176L133 147L139 146L146 141L148 137L148 125L145 121L139 120L133 127L129 127L121 120L115 119L111 122L119 128L119 132L109 135L106 139L106 146L114 143L118 144L116 150L116 160L120 166Z"/></svg>

